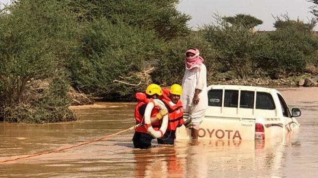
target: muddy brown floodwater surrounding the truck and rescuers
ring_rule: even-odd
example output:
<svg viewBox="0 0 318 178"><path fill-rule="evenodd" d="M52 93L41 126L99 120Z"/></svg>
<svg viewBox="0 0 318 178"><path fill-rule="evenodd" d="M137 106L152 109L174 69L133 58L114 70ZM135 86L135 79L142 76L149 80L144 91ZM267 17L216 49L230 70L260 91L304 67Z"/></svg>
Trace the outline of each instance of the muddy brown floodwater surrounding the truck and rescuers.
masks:
<svg viewBox="0 0 318 178"><path fill-rule="evenodd" d="M299 107L301 127L265 141L177 142L134 149L129 131L67 151L0 164L0 178L236 177L316 178L318 88L279 89ZM74 107L80 121L47 125L0 123L0 160L67 147L129 128L135 103Z"/></svg>

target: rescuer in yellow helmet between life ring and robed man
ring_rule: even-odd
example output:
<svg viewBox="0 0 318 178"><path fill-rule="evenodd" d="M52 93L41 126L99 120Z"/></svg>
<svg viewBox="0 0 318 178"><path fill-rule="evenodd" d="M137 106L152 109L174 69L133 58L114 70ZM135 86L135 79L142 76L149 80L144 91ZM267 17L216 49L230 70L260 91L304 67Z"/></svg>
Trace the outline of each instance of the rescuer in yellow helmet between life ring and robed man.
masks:
<svg viewBox="0 0 318 178"><path fill-rule="evenodd" d="M165 103L168 109L169 122L163 138L157 139L157 141L159 144L174 144L176 129L183 124L183 107L180 100L182 87L178 84L173 84L170 90L162 90L163 95L160 99Z"/></svg>

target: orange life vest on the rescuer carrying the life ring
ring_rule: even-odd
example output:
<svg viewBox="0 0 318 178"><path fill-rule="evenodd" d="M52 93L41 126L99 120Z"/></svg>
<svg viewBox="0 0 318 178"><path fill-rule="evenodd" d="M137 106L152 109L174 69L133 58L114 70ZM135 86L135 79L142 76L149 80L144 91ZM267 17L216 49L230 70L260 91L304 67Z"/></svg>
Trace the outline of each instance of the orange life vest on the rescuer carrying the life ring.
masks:
<svg viewBox="0 0 318 178"><path fill-rule="evenodd" d="M137 104L135 108L135 120L136 120L136 124L142 124L142 125L136 127L135 131L148 134L147 127L145 125L145 120L143 119L144 116L140 114L139 108L142 107L143 105L147 105L151 100L146 98L145 93L136 93L136 99L139 100L139 103ZM151 117L155 116L158 112L159 112L159 108L154 107L151 111ZM159 130L161 123L158 121L156 123L152 123L151 125L154 130Z"/></svg>

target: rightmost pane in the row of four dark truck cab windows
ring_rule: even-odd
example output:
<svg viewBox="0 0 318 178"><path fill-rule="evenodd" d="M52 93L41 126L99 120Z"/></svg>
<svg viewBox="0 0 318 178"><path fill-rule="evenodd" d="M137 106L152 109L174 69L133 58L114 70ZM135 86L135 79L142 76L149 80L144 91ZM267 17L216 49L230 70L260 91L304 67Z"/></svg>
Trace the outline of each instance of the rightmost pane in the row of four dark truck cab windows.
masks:
<svg viewBox="0 0 318 178"><path fill-rule="evenodd" d="M275 104L271 94L265 92L256 93L256 108L274 110Z"/></svg>

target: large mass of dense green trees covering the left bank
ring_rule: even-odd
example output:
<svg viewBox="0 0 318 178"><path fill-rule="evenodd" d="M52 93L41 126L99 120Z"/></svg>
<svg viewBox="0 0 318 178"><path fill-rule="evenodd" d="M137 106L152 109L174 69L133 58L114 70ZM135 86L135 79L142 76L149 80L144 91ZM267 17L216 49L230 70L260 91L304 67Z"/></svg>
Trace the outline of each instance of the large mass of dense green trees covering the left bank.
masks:
<svg viewBox="0 0 318 178"><path fill-rule="evenodd" d="M189 33L178 0L17 0L0 13L0 118L74 120L66 90L131 99L168 40ZM152 69L152 70L149 70ZM115 80L139 84L136 86ZM33 87L49 81L47 88ZM41 83L41 82L40 82Z"/></svg>

